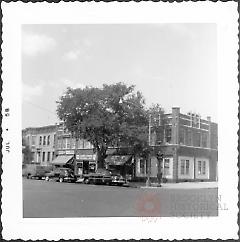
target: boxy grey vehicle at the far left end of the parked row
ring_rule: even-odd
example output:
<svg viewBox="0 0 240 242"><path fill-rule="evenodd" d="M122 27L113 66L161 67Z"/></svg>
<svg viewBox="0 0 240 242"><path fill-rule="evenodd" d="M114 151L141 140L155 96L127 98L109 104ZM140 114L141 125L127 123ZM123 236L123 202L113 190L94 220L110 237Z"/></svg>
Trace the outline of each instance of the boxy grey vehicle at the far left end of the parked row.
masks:
<svg viewBox="0 0 240 242"><path fill-rule="evenodd" d="M26 164L23 166L22 174L27 179L42 179L46 173L52 170L52 166L42 166L39 164Z"/></svg>

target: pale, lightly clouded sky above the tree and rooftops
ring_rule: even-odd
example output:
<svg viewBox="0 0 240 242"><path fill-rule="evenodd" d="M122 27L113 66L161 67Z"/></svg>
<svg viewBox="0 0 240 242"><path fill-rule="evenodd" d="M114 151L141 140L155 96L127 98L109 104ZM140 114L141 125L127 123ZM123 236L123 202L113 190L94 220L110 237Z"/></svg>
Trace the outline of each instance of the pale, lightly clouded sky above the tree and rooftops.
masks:
<svg viewBox="0 0 240 242"><path fill-rule="evenodd" d="M67 87L124 82L217 122L216 24L22 25L22 126L59 122Z"/></svg>

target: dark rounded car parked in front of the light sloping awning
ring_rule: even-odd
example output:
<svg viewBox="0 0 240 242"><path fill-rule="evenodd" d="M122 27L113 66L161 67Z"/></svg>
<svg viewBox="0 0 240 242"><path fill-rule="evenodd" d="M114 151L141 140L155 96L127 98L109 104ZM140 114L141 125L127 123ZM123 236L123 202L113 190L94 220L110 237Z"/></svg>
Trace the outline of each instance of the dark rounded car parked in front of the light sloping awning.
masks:
<svg viewBox="0 0 240 242"><path fill-rule="evenodd" d="M55 180L58 182L75 182L76 176L70 168L56 168L52 172L46 174L46 181Z"/></svg>

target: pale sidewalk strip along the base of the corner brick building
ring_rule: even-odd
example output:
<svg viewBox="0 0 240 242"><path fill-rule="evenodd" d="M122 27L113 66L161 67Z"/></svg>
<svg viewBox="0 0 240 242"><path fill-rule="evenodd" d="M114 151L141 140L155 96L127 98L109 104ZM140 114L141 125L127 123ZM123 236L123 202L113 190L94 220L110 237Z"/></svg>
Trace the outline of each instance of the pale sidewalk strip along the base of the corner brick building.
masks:
<svg viewBox="0 0 240 242"><path fill-rule="evenodd" d="M179 182L179 183L162 183L158 187L157 183L152 183L150 187L146 187L144 183L130 183L130 187L139 187L143 189L203 189L203 188L217 188L217 182Z"/></svg>

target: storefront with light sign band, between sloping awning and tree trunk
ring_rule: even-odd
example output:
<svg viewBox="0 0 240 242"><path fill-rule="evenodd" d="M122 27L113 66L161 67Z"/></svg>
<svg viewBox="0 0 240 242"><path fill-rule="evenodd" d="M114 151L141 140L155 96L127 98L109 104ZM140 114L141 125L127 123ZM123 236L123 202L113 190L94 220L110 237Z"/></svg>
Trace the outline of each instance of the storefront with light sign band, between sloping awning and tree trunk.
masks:
<svg viewBox="0 0 240 242"><path fill-rule="evenodd" d="M96 154L93 150L78 150L76 154L75 173L78 176L95 172L97 168Z"/></svg>

